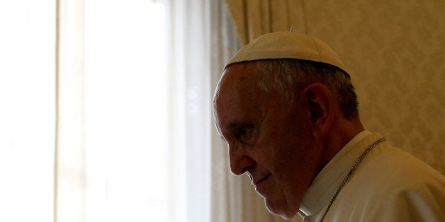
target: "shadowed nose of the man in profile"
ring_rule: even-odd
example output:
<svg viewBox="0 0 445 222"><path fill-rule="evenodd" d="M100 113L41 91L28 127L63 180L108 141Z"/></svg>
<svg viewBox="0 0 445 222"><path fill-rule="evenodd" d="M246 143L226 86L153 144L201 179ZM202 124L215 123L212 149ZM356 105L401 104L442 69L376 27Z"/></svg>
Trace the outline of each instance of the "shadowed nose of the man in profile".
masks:
<svg viewBox="0 0 445 222"><path fill-rule="evenodd" d="M229 158L230 170L234 175L242 175L255 165L255 160L240 146L229 145Z"/></svg>

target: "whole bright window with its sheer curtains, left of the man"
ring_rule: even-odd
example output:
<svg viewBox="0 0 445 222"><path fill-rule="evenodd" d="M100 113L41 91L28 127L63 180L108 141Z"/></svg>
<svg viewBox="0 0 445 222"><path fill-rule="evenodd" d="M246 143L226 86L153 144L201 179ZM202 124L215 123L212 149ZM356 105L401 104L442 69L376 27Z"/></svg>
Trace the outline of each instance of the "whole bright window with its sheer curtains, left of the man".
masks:
<svg viewBox="0 0 445 222"><path fill-rule="evenodd" d="M165 4L0 3L0 221L208 221L210 5Z"/></svg>

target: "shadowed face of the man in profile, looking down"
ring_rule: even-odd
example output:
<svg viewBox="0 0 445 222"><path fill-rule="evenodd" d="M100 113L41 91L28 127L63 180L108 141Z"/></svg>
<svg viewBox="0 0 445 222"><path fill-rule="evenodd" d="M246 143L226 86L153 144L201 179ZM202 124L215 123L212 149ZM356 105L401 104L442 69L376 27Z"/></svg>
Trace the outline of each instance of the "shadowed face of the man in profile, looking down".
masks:
<svg viewBox="0 0 445 222"><path fill-rule="evenodd" d="M269 211L292 218L319 170L322 150L303 103L259 90L256 71L249 62L226 69L215 96L215 123L229 145L232 173L247 172Z"/></svg>

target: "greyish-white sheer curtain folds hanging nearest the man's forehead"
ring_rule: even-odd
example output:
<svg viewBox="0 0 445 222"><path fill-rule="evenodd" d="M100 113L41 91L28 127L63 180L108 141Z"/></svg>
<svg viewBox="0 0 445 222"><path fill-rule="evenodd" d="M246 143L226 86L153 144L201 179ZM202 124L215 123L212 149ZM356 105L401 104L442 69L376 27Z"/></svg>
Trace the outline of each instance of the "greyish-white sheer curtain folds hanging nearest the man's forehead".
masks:
<svg viewBox="0 0 445 222"><path fill-rule="evenodd" d="M207 1L165 1L169 95L169 221L207 221L210 30Z"/></svg>

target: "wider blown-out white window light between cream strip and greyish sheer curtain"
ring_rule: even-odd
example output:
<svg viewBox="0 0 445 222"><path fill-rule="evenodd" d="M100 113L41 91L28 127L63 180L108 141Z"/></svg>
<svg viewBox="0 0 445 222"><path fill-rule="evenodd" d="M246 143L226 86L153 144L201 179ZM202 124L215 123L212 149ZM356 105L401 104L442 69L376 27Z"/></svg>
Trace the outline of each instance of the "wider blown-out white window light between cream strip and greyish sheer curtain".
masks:
<svg viewBox="0 0 445 222"><path fill-rule="evenodd" d="M85 1L87 221L167 221L164 6Z"/></svg>

